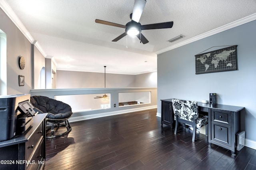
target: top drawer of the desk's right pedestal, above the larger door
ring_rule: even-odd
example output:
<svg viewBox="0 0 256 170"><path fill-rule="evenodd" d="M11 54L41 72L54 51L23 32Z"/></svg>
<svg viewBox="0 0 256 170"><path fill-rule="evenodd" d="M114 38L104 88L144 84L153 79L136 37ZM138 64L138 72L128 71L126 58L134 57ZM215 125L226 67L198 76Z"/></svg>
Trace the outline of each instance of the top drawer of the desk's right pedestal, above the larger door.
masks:
<svg viewBox="0 0 256 170"><path fill-rule="evenodd" d="M225 110L212 109L212 121L219 123L231 123L231 112Z"/></svg>

